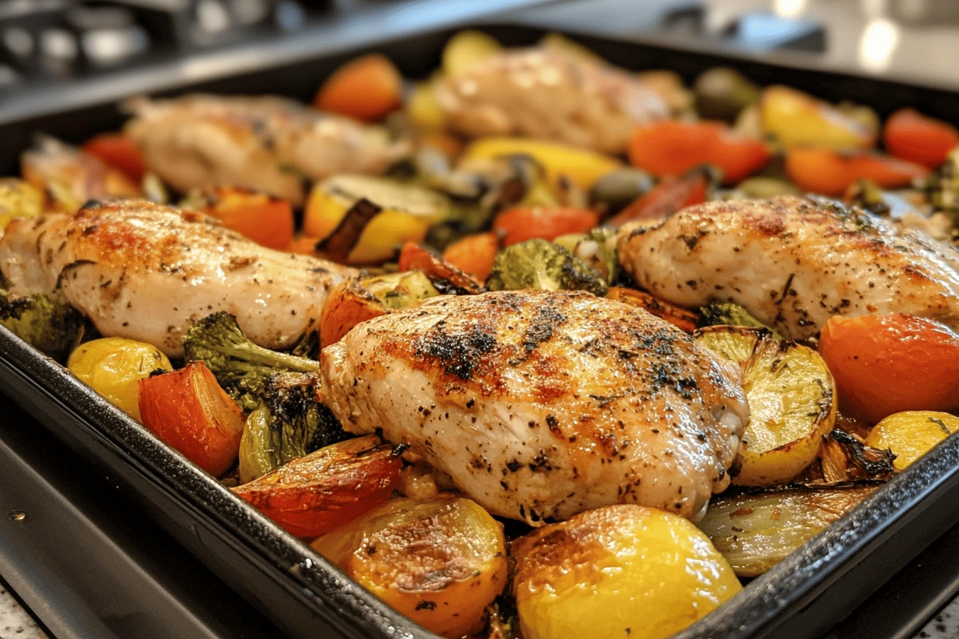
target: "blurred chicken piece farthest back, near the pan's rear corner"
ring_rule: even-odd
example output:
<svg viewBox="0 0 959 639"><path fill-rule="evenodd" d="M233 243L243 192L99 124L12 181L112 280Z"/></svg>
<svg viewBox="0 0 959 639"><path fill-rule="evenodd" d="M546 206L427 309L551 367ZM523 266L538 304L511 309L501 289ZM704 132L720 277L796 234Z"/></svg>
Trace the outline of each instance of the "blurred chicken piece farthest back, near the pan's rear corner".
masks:
<svg viewBox="0 0 959 639"><path fill-rule="evenodd" d="M503 51L438 86L460 133L528 135L599 151L625 151L633 129L669 115L643 80L548 48Z"/></svg>

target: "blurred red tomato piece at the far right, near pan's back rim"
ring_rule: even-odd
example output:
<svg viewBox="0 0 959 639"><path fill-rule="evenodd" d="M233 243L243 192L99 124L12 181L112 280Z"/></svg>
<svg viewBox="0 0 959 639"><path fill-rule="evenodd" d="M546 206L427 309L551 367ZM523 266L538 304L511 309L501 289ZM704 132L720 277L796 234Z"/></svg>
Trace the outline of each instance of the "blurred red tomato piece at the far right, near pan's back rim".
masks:
<svg viewBox="0 0 959 639"><path fill-rule="evenodd" d="M901 108L886 120L882 140L890 155L938 169L949 151L959 147L959 131L916 109Z"/></svg>

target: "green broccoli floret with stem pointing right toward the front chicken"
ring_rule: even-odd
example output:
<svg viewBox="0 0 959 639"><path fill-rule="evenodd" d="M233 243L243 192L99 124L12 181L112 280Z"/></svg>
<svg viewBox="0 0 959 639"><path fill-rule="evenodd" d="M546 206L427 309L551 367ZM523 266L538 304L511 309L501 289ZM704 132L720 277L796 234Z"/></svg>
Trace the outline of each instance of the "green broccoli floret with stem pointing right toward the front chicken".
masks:
<svg viewBox="0 0 959 639"><path fill-rule="evenodd" d="M236 317L225 311L194 322L183 336L183 354L187 361L206 364L223 390L245 410L256 407L267 377L284 371L319 370L314 359L257 346L240 330Z"/></svg>

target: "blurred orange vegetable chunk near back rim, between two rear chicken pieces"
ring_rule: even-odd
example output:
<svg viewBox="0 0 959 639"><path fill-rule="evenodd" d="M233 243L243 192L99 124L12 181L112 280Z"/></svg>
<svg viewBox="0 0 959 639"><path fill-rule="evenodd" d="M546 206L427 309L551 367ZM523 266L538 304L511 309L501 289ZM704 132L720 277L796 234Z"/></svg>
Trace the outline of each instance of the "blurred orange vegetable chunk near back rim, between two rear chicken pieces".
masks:
<svg viewBox="0 0 959 639"><path fill-rule="evenodd" d="M319 87L314 106L324 111L379 122L403 105L403 78L388 57L369 54L350 60Z"/></svg>

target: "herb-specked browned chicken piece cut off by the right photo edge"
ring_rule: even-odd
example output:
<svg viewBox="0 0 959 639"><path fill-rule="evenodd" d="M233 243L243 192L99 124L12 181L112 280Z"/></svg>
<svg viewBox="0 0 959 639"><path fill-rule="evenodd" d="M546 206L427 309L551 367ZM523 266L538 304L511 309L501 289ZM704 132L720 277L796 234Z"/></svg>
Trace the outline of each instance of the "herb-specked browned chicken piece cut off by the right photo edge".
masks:
<svg viewBox="0 0 959 639"><path fill-rule="evenodd" d="M820 198L709 202L620 229L620 261L673 304L730 300L792 338L832 315L901 312L959 329L959 251Z"/></svg>

